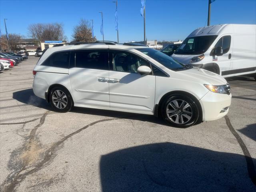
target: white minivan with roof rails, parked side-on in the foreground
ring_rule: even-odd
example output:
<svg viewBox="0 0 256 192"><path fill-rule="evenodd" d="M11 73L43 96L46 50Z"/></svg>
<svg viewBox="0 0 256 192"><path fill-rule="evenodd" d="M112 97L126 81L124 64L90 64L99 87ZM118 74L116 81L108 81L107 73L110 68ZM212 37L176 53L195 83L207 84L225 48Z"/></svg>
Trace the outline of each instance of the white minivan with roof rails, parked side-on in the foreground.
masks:
<svg viewBox="0 0 256 192"><path fill-rule="evenodd" d="M57 112L73 106L150 114L188 127L228 113L230 87L141 44L103 42L48 48L34 67L34 94Z"/></svg>

